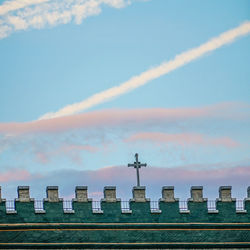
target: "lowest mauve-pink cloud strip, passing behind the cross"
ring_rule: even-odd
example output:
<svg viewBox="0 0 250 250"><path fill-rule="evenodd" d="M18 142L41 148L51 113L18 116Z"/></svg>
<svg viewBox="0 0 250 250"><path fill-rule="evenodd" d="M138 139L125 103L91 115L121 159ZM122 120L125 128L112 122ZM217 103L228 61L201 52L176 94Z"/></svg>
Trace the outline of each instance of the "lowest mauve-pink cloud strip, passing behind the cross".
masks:
<svg viewBox="0 0 250 250"><path fill-rule="evenodd" d="M204 169L204 166L185 166L176 168L151 167L143 168L142 175L144 180L150 181L216 181L216 180L237 180L247 179L250 176L250 166L248 167L228 167ZM124 182L134 180L133 169L123 167L106 167L91 171L91 181L116 180Z"/></svg>

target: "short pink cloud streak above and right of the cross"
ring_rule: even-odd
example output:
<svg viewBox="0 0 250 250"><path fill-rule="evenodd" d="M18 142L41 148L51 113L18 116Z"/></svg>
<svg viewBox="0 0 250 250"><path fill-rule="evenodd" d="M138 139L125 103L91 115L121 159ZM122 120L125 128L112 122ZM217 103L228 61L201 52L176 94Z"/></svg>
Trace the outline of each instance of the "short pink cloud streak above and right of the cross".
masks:
<svg viewBox="0 0 250 250"><path fill-rule="evenodd" d="M182 133L167 134L158 132L136 133L125 140L126 142L153 142L156 144L174 143L180 146L202 145L202 146L224 146L237 147L240 144L229 137L209 137L203 134Z"/></svg>

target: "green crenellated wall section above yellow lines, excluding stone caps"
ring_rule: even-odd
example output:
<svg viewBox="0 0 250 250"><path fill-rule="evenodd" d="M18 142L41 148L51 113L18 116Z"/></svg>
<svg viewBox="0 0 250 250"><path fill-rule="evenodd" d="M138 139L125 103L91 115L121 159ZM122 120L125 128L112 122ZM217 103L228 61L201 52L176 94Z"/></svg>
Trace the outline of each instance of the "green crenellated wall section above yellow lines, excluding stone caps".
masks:
<svg viewBox="0 0 250 250"><path fill-rule="evenodd" d="M180 211L178 201L159 202L159 211L151 211L150 202L130 202L130 211L122 212L121 202L101 202L101 211L93 212L92 203L73 202L73 211L65 212L63 202L44 202L44 213L37 213L34 201L15 202L15 213L7 213L0 203L0 224L6 223L240 223L250 222L250 200L245 211L236 211L235 201L217 201L217 211L208 211L206 201L188 202L188 210Z"/></svg>

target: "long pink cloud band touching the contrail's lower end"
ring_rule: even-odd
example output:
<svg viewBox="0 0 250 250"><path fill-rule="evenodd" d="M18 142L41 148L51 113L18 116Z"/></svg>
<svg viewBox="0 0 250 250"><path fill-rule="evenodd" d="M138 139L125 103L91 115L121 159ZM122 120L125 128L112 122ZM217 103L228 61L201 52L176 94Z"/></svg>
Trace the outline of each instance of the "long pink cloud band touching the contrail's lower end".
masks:
<svg viewBox="0 0 250 250"><path fill-rule="evenodd" d="M145 124L188 119L249 119L247 104L221 103L202 108L151 108L102 110L66 117L24 123L0 123L0 133L9 136L24 133L56 133L71 129Z"/></svg>

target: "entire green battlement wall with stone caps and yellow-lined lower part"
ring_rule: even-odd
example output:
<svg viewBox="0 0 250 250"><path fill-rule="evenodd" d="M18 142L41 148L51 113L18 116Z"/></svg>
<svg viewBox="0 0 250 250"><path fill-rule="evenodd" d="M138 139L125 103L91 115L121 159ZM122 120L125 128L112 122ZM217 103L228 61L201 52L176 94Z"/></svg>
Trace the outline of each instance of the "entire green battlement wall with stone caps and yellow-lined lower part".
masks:
<svg viewBox="0 0 250 250"><path fill-rule="evenodd" d="M0 196L0 248L8 249L250 249L250 188L244 208L236 209L231 187L219 188L213 210L203 188L191 187L185 210L174 187L162 188L158 209L150 209L145 187L134 187L133 198L122 209L115 187L104 188L100 209L93 210L87 187L78 186L72 209L63 208L58 187L47 187L43 209L35 209L29 187L18 187L14 209L6 210Z"/></svg>

